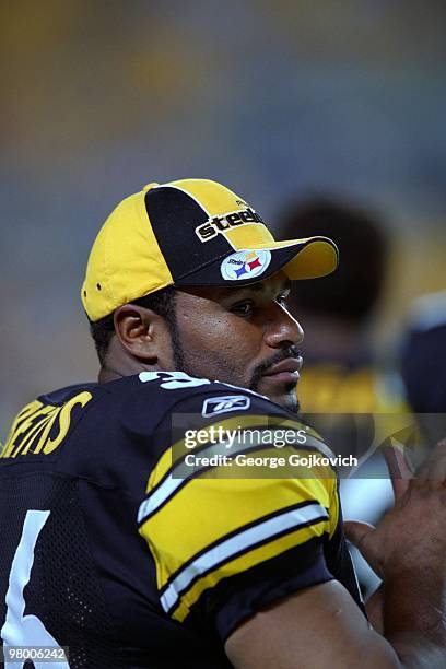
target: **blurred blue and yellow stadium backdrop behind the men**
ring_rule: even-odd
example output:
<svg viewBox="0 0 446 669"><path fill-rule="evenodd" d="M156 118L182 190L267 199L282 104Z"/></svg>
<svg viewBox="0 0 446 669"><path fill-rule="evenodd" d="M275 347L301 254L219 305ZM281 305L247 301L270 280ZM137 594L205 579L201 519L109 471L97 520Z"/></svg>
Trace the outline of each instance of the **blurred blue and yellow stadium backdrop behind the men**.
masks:
<svg viewBox="0 0 446 669"><path fill-rule="evenodd" d="M1 3L0 436L36 394L95 378L90 245L151 180L221 180L272 226L313 192L382 213L389 351L445 287L445 19L435 0Z"/></svg>

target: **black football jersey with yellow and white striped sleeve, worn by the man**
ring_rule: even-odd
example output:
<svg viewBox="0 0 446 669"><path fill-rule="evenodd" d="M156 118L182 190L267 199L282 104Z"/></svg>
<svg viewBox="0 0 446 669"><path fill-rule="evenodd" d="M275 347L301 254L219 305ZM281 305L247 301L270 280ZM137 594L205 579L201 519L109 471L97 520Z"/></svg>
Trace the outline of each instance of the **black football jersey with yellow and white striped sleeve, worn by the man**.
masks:
<svg viewBox="0 0 446 669"><path fill-rule="evenodd" d="M184 373L27 404L0 457L4 648L67 648L59 669L218 669L227 636L294 591L336 578L362 607L336 476L234 474L211 439L256 430L231 453L265 455L279 425L303 427L267 398ZM324 447L309 442L298 449Z"/></svg>

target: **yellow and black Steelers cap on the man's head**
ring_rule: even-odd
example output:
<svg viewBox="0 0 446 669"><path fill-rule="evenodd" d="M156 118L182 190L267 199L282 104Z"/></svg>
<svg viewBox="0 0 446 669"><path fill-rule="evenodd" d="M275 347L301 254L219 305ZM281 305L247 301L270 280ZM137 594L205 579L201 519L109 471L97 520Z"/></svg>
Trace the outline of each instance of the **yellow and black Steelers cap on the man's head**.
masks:
<svg viewBox="0 0 446 669"><path fill-rule="evenodd" d="M236 286L280 269L294 279L332 272L328 237L275 242L239 196L209 179L149 184L120 202L90 254L82 303L92 321L167 285Z"/></svg>

